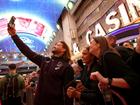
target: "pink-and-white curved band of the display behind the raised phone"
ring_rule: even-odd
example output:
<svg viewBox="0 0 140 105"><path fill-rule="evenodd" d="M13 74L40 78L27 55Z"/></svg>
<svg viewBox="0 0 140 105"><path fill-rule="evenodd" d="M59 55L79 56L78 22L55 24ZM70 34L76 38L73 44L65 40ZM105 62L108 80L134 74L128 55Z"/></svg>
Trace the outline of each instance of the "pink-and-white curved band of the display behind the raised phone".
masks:
<svg viewBox="0 0 140 105"><path fill-rule="evenodd" d="M3 37L3 35L8 35L7 23L8 19L0 19L0 37ZM43 31L45 31L45 25L30 18L16 17L15 24L17 32L25 32L37 36L42 36Z"/></svg>

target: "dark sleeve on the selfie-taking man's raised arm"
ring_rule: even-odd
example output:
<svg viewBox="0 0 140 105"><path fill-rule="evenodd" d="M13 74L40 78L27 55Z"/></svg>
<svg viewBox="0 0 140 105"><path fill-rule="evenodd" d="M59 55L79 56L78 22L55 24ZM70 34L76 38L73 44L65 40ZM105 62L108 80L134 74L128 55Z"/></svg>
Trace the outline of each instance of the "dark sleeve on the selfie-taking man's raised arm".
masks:
<svg viewBox="0 0 140 105"><path fill-rule="evenodd" d="M37 64L39 67L41 66L41 62L46 59L45 57L33 52L19 37L18 35L12 36L13 41L19 50L32 62Z"/></svg>

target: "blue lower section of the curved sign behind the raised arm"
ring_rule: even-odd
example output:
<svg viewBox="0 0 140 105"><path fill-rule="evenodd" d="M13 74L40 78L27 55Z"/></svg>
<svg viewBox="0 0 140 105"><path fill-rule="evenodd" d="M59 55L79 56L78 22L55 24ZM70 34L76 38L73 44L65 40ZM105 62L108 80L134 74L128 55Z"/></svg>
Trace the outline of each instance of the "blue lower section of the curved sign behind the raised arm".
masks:
<svg viewBox="0 0 140 105"><path fill-rule="evenodd" d="M33 51L41 53L46 49L46 45L40 37L29 33L18 33L18 35L20 39ZM10 36L0 41L0 50L2 52L20 52Z"/></svg>

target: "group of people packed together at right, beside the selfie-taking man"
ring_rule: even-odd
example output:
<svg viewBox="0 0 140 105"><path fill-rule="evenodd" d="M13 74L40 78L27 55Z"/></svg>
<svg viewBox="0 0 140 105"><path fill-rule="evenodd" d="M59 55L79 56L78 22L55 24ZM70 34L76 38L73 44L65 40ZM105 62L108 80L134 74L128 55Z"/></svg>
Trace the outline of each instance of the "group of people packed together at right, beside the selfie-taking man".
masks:
<svg viewBox="0 0 140 105"><path fill-rule="evenodd" d="M68 96L78 99L80 105L140 104L139 41L140 36L136 47L130 49L123 44L118 46L114 36L93 37L89 48L82 52L82 90L79 84L70 86Z"/></svg>

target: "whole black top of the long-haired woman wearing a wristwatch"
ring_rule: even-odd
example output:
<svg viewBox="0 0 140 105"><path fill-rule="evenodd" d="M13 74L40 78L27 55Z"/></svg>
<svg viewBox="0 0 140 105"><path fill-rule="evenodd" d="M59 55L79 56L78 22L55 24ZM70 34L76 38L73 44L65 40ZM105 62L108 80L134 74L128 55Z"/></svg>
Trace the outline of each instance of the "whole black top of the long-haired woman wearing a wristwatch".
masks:
<svg viewBox="0 0 140 105"><path fill-rule="evenodd" d="M123 89L113 86L111 88L118 92L127 101L128 105L134 105L130 101L136 101L136 96L133 97L131 94L139 85L139 76L133 71L133 69L126 65L119 55L113 52L104 53L104 55L101 57L101 66L102 70L100 73L104 77L123 78L129 84L130 89ZM117 100L116 97L114 97L114 100ZM115 102L117 103L117 101ZM121 104L117 103L117 105Z"/></svg>

